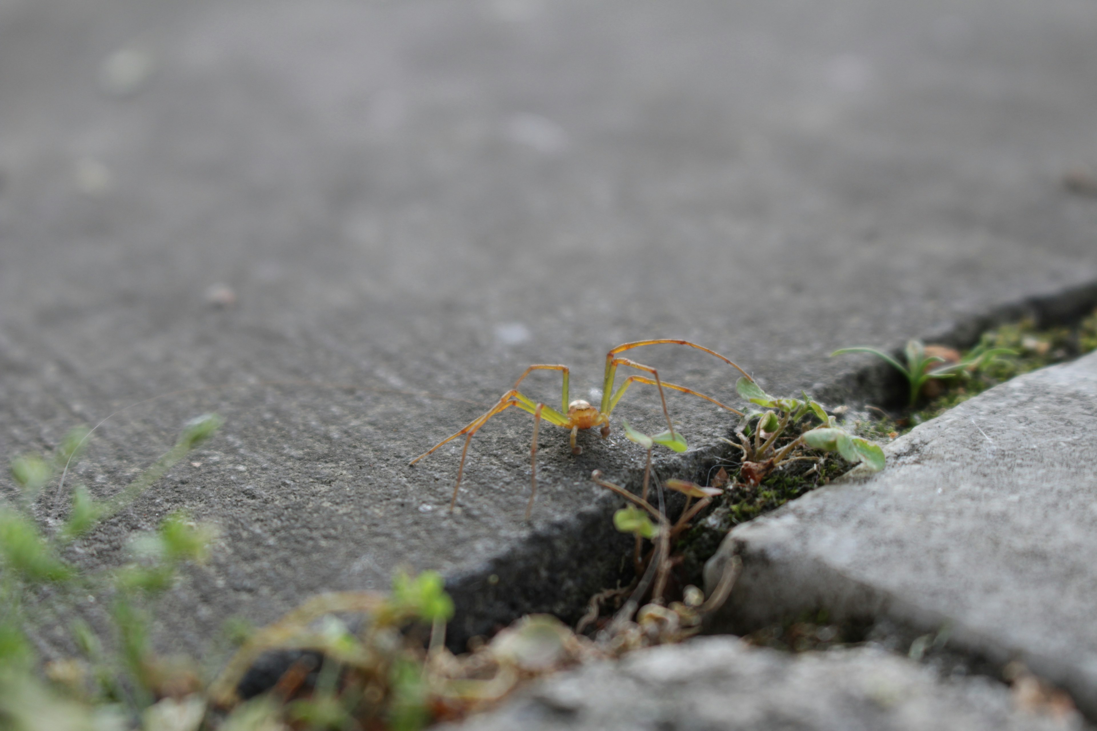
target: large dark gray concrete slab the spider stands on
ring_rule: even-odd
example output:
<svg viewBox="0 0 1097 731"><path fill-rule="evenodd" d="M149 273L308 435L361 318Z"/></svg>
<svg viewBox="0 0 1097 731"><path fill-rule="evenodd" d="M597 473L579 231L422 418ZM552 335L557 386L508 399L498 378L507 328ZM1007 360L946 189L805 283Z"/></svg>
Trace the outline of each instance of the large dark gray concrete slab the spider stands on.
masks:
<svg viewBox="0 0 1097 731"><path fill-rule="evenodd" d="M1060 176L1097 162L1095 31L1088 0L2 0L0 453L245 385L115 416L77 469L109 494L227 418L82 555L220 523L167 603L181 647L402 563L484 605L453 637L574 608L618 560L587 476L638 449L546 435L524 526L508 414L450 516L457 449L406 461L483 407L392 391L486 404L550 362L583 396L607 349L671 335L836 401L860 364L834 347L1092 301L1097 205ZM671 407L693 444L728 427Z"/></svg>

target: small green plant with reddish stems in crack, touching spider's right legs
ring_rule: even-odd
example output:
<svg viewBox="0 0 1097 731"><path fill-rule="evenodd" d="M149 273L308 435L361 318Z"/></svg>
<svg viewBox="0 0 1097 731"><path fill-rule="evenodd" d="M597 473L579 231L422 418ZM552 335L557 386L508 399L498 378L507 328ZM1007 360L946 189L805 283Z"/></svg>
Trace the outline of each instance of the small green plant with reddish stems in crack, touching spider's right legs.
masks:
<svg viewBox="0 0 1097 731"><path fill-rule="evenodd" d="M803 399L778 399L766 393L754 380L740 378L735 385L739 396L749 403L766 411L751 411L736 431L738 442L724 439L743 452L739 477L748 484L758 484L776 468L787 462L815 459L803 454L810 447L822 452L836 452L852 464L863 462L873 470L884 468L884 453L868 439L852 436L837 425L834 416L806 392ZM816 419L819 426L803 429L804 420ZM799 429L800 434L781 442L790 429Z"/></svg>

